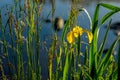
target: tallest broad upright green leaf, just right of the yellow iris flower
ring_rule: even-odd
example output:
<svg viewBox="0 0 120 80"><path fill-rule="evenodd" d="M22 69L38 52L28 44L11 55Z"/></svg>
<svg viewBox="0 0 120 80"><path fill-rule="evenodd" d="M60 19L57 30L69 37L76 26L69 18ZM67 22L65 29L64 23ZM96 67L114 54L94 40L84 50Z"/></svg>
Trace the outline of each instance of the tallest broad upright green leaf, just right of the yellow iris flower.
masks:
<svg viewBox="0 0 120 80"><path fill-rule="evenodd" d="M96 75L96 63L95 63L95 54L97 52L97 42L98 42L98 17L99 17L99 4L96 6L94 17L93 17L93 26L92 26L92 33L93 33L93 41L90 45L90 55L89 55L89 73L92 78Z"/></svg>

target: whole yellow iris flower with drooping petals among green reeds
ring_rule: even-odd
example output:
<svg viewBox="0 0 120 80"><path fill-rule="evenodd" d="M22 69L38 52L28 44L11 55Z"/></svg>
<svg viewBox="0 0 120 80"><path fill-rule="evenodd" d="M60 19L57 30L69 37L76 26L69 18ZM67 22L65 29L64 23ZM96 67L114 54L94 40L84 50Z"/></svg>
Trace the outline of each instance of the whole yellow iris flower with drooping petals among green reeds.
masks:
<svg viewBox="0 0 120 80"><path fill-rule="evenodd" d="M93 34L92 32L82 29L80 26L75 26L72 31L67 33L67 41L69 43L73 43L74 42L74 38L77 38L78 36L81 36L83 33L87 33L88 39L89 39L89 43L92 42L93 39Z"/></svg>

